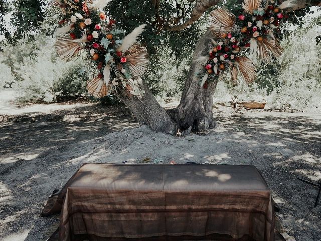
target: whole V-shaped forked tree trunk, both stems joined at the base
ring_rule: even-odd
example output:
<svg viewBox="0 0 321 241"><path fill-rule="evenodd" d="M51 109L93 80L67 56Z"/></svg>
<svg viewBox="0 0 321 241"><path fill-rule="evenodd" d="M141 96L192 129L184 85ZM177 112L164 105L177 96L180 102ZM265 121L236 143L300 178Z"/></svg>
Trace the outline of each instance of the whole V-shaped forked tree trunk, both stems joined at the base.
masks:
<svg viewBox="0 0 321 241"><path fill-rule="evenodd" d="M203 74L203 64L195 62L199 56L207 56L213 35L208 30L196 44L180 105L169 114L159 105L145 82L139 83L145 94L138 98L118 93L117 97L136 115L139 123L145 123L152 130L175 135L178 129L190 126L194 131L205 131L214 127L212 113L213 95L217 82L208 83L207 88L199 84Z"/></svg>

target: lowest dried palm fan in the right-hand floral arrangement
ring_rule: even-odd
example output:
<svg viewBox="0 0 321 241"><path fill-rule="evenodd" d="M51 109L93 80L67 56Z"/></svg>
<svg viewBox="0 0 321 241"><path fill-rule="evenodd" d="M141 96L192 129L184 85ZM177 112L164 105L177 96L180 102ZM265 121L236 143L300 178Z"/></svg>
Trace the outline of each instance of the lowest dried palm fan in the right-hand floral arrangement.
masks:
<svg viewBox="0 0 321 241"><path fill-rule="evenodd" d="M246 57L238 57L235 59L235 64L238 68L238 71L241 73L245 83L250 84L256 79L256 69L252 61ZM236 80L237 76L235 69L232 68L232 78Z"/></svg>

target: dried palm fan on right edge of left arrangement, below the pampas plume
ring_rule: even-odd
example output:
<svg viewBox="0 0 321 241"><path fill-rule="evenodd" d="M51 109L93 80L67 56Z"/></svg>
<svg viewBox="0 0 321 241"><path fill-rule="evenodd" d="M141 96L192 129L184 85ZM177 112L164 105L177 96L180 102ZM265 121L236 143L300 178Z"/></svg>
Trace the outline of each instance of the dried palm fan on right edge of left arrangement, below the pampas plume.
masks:
<svg viewBox="0 0 321 241"><path fill-rule="evenodd" d="M148 66L147 49L139 45L133 45L125 55L131 73L138 77L142 76Z"/></svg>

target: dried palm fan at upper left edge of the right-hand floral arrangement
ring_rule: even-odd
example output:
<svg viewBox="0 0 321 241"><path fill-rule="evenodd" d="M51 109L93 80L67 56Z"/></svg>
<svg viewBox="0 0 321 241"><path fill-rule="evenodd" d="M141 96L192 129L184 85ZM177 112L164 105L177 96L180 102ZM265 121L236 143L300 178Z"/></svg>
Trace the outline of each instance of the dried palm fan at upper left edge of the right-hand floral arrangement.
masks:
<svg viewBox="0 0 321 241"><path fill-rule="evenodd" d="M232 31L235 15L226 9L215 9L210 13L210 30L216 36Z"/></svg>

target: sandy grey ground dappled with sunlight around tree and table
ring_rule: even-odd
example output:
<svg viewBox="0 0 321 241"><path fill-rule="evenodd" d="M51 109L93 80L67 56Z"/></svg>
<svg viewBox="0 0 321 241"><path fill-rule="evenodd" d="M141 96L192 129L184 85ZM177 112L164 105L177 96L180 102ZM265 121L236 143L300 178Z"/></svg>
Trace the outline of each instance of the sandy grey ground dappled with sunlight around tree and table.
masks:
<svg viewBox="0 0 321 241"><path fill-rule="evenodd" d="M321 180L320 114L216 110L218 129L182 137L138 127L124 107L17 110L6 101L0 107L0 240L46 240L59 218L39 217L50 193L83 163L124 161L255 165L281 207L284 231L298 241L321 240L317 189L296 179Z"/></svg>

